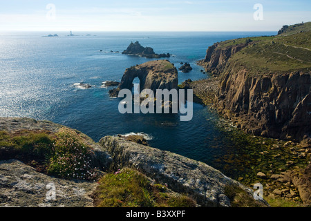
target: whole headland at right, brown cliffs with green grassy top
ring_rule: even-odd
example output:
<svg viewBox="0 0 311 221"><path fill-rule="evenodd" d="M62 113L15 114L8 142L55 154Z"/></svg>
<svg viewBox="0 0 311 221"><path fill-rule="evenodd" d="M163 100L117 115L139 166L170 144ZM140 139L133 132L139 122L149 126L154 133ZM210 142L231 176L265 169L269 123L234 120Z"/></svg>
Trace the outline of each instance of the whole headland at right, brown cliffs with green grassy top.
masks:
<svg viewBox="0 0 311 221"><path fill-rule="evenodd" d="M286 29L214 44L199 64L220 81L214 106L239 127L311 142L310 23Z"/></svg>

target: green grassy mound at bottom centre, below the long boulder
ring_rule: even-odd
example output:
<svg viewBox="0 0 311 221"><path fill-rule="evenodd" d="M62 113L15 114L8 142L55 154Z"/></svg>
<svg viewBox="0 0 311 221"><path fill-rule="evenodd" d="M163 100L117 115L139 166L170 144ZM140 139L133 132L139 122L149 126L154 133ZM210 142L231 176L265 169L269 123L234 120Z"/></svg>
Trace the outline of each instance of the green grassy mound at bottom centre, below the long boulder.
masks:
<svg viewBox="0 0 311 221"><path fill-rule="evenodd" d="M142 173L122 169L104 175L95 192L99 207L194 207L196 202L185 195L176 195L162 184L151 184Z"/></svg>

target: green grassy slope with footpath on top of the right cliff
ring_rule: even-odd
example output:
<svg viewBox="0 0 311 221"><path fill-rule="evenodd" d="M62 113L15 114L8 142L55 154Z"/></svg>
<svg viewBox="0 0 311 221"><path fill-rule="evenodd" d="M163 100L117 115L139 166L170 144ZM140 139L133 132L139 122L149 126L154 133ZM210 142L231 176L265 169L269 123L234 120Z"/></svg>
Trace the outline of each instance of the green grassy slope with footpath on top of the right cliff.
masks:
<svg viewBox="0 0 311 221"><path fill-rule="evenodd" d="M245 66L250 74L311 71L311 22L290 26L282 35L223 41L220 47L243 44L247 39L252 43L230 60Z"/></svg>

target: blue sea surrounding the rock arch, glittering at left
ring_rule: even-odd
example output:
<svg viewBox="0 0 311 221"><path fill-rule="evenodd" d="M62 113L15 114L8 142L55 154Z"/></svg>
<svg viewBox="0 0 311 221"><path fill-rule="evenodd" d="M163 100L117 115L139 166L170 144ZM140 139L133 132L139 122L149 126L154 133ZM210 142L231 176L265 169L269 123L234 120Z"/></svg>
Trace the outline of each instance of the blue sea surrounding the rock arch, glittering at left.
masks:
<svg viewBox="0 0 311 221"><path fill-rule="evenodd" d="M191 121L178 114L121 114L122 98L109 97L104 81L120 81L126 68L147 59L122 55L131 41L158 54L169 53L176 68L191 64L190 73L178 72L178 83L208 78L196 61L209 46L241 37L276 32L0 32L0 117L50 120L82 131L98 142L106 135L143 135L150 146L219 166L221 157L241 149L224 130L213 110L194 105ZM138 83L135 79L134 83ZM77 83L90 84L88 89Z"/></svg>

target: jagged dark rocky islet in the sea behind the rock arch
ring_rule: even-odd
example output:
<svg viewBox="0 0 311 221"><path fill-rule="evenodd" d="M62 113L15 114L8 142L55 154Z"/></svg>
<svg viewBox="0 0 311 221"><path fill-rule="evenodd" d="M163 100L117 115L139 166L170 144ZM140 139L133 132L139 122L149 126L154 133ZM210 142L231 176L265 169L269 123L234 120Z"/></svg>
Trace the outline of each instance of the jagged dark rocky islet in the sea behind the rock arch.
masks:
<svg viewBox="0 0 311 221"><path fill-rule="evenodd" d="M139 56L147 57L147 58L171 57L171 55L169 55L169 53L167 53L167 54L162 53L162 54L158 55L153 51L153 48L150 48L150 47L144 48L143 46L140 45L140 43L138 41L136 41L135 43L131 42L129 47L127 47L126 50L124 50L122 52L122 54L124 54L124 55L139 55Z"/></svg>

